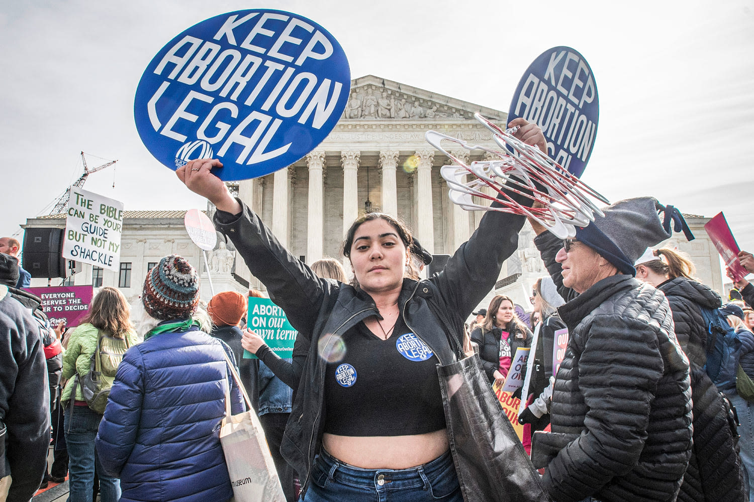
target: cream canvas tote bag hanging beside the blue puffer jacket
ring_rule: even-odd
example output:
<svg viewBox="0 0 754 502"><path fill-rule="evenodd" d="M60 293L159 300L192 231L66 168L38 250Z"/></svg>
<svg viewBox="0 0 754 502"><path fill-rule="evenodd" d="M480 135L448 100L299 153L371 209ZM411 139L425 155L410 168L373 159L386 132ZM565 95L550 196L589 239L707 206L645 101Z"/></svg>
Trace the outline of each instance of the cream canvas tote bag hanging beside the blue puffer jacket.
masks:
<svg viewBox="0 0 754 502"><path fill-rule="evenodd" d="M235 502L286 502L270 455L262 424L234 365L225 354L233 379L244 394L249 411L231 415L230 385L225 389L225 418L220 422L220 444L233 486Z"/></svg>

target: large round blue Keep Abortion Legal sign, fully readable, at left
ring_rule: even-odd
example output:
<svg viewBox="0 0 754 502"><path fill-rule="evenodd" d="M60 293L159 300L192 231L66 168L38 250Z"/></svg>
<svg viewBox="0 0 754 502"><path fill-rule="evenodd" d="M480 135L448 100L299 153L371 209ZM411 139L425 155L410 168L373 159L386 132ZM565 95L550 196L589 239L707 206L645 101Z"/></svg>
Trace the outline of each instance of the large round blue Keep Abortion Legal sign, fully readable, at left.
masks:
<svg viewBox="0 0 754 502"><path fill-rule="evenodd" d="M195 24L149 62L136 129L162 164L218 158L224 181L257 178L312 151L351 90L342 47L297 14L235 11Z"/></svg>

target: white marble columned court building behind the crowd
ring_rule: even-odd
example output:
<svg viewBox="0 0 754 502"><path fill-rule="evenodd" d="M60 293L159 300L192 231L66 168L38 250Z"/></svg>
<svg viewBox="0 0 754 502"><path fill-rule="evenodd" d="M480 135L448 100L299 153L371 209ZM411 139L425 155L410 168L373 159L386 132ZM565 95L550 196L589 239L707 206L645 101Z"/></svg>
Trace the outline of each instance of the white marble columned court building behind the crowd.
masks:
<svg viewBox="0 0 754 502"><path fill-rule="evenodd" d="M474 119L477 112L500 126L506 122L504 111L372 75L357 78L351 81L351 95L342 119L314 151L287 169L230 184L231 190L305 263L322 257L342 257L345 230L354 219L364 211L382 211L406 222L441 265L441 255L453 254L469 238L483 211L464 211L450 202L440 167L451 161L429 145L425 132L433 129L471 144L499 149L489 131ZM485 159L483 152L463 148L452 150L452 154L467 163ZM599 186L596 188L599 190ZM212 207L208 208L208 212L212 211ZM84 265L73 282L93 284L99 273L96 286L120 286L134 300L141 293L149 267L164 255L177 253L201 271L202 297L209 300L207 267L201 251L185 233L183 214L185 211L125 211L121 273L98 272L96 267ZM676 246L690 254L700 281L722 294L719 257L703 230L708 218L686 215L686 220L697 239L686 242L682 235L678 239L673 236L663 245ZM31 218L24 227L45 226L65 227L64 215ZM494 294L507 294L529 309L532 284L547 273L533 238L534 233L526 224L518 250L506 260L495 289L480 307L486 308ZM128 273L133 275L127 286L124 263L128 263ZM218 244L207 265L216 291L265 289L230 243L227 249ZM345 269L351 273L350 266ZM32 280L34 286L44 284L46 279Z"/></svg>

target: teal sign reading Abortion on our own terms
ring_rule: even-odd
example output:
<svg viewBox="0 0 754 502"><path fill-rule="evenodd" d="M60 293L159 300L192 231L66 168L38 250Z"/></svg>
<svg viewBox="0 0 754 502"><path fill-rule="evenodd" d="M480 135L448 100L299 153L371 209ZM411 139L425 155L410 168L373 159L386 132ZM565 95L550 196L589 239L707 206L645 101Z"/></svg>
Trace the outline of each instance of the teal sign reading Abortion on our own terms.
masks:
<svg viewBox="0 0 754 502"><path fill-rule="evenodd" d="M247 326L265 339L271 351L280 357L293 357L293 343L296 342L296 330L288 318L268 298L249 297ZM256 359L250 351L244 351L245 359Z"/></svg>

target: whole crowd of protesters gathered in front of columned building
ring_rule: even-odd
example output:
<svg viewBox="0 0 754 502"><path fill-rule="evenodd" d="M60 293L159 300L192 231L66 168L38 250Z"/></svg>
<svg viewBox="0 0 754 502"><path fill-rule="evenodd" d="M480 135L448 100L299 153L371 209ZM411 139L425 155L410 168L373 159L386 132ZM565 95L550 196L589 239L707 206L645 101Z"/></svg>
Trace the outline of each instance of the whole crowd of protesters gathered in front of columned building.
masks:
<svg viewBox="0 0 754 502"><path fill-rule="evenodd" d="M510 126L544 148L538 126ZM92 500L96 483L103 502L233 500L219 423L228 408L244 411L244 390L287 500L464 500L437 378L457 346L477 352L490 385L506 380L517 348L532 351L518 414L532 463L507 468L540 469L551 500L752 500L754 403L718 376L731 368L711 371L719 340L709 318L725 319L732 370L751 382L754 285L734 281L741 300L724 304L688 257L657 248L669 221L685 226L677 210L623 200L565 241L530 219L549 275L533 285L527 324L510 297L480 305L524 216L487 212L443 270L422 278L432 256L409 229L363 214L342 247L348 281L339 260L294 257L212 174L220 166L192 160L177 175L216 206L217 230L286 313L293 356L246 328L249 296L262 293L224 291L204 304L198 272L177 255L148 272L138 322L118 289L102 288L64 335L20 289L29 284L17 241L0 239L0 501L26 502L66 476L72 502ZM739 260L754 272L751 254ZM87 392L93 361L109 391L100 404ZM236 367L243 388L228 377Z"/></svg>

